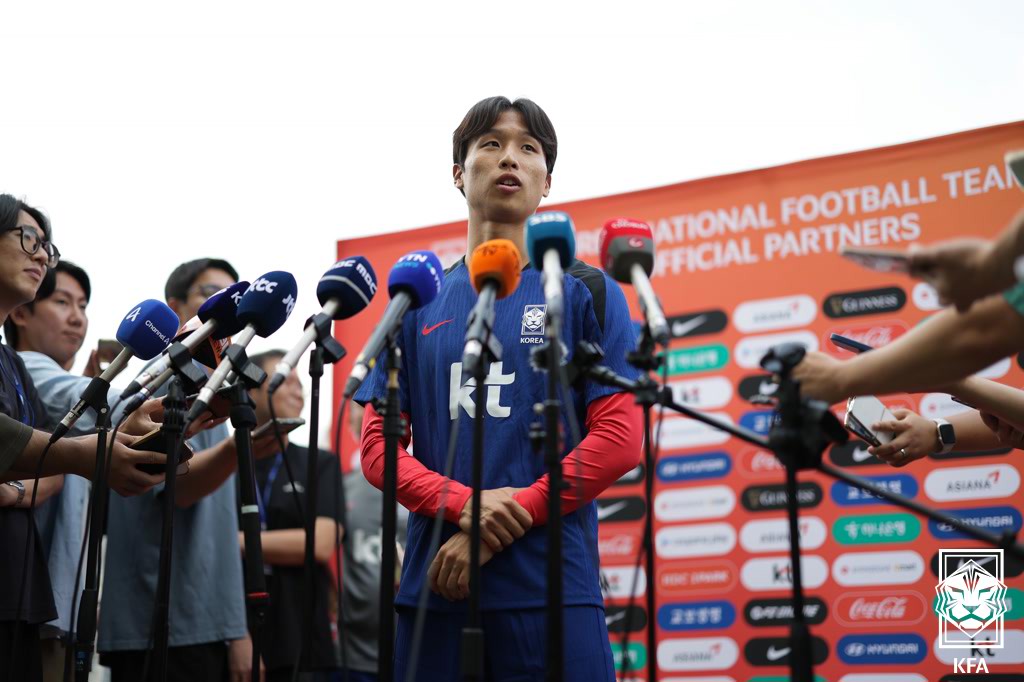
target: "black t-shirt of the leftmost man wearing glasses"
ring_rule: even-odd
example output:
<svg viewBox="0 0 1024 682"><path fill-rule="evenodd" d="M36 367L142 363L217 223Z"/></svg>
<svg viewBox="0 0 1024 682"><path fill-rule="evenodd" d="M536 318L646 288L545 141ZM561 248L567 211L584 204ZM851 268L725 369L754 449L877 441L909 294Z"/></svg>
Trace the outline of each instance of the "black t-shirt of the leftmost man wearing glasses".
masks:
<svg viewBox="0 0 1024 682"><path fill-rule="evenodd" d="M20 387L20 391L18 391ZM25 364L7 344L0 343L0 413L34 428L44 428L46 410L39 399L32 377ZM28 495L28 493L26 493ZM29 557L25 597L22 600L22 621L39 624L57 616L53 604L53 589L46 557L28 509L0 508L0 621L17 617L18 588L22 586L22 565L25 561L26 540L34 536Z"/></svg>

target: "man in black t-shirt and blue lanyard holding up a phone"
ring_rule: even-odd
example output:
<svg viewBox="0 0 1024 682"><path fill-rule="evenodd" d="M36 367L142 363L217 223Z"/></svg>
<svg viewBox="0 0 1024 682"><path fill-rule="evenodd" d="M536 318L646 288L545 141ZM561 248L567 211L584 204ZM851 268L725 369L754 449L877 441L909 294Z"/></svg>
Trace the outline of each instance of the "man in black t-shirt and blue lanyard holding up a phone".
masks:
<svg viewBox="0 0 1024 682"><path fill-rule="evenodd" d="M283 350L269 350L254 354L251 359L269 373L284 355ZM272 433L267 383L264 382L251 395L256 403L257 428L266 425ZM282 433L290 428L287 422L296 420L302 414L304 404L302 382L293 371L273 394L273 413L279 420L286 422L279 426ZM292 666L301 647L306 534L305 519L299 514L299 507L305 510L307 457L305 447L289 443L284 453L279 452L255 463L257 502L263 525L260 542L267 572L267 591L270 593L270 605L263 628L263 663L266 666L267 682L292 679ZM290 480L289 471L294 479ZM341 468L338 458L332 453L323 450L317 453L316 480L316 610L313 613L310 665L315 671L331 671L337 670L340 664L328 614L331 586L328 564L343 532L341 497L338 494L341 488ZM239 543L245 552L245 539L241 531ZM300 682L311 682L316 678L314 673L304 672L297 679Z"/></svg>

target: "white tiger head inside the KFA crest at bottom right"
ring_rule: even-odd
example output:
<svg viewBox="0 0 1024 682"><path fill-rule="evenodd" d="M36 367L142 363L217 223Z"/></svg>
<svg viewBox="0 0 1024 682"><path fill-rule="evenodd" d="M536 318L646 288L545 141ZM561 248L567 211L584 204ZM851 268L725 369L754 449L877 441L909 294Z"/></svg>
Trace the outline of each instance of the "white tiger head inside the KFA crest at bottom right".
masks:
<svg viewBox="0 0 1024 682"><path fill-rule="evenodd" d="M935 587L935 612L972 640L1007 612L1007 586L973 559Z"/></svg>

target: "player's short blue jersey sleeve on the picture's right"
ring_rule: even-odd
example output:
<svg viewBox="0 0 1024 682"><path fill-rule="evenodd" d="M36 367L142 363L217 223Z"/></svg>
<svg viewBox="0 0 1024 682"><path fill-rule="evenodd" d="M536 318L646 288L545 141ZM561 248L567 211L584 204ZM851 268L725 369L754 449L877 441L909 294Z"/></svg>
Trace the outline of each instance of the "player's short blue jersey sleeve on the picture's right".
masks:
<svg viewBox="0 0 1024 682"><path fill-rule="evenodd" d="M603 272L601 274L604 280L604 300L599 300L601 291L592 290L591 309L584 317L584 337L588 341L597 343L604 350L605 367L627 379L638 379L639 370L626 359L626 356L636 349L636 333L630 319L626 296L618 283ZM602 312L604 318L598 319ZM621 391L620 388L588 381L584 388L584 397L587 404L590 404L599 397Z"/></svg>

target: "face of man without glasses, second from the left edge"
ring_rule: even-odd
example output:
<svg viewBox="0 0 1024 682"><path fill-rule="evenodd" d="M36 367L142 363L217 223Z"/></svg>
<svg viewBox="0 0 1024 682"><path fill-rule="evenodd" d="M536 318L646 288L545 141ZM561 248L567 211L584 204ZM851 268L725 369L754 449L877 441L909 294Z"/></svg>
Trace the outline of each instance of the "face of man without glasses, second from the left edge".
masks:
<svg viewBox="0 0 1024 682"><path fill-rule="evenodd" d="M67 272L57 272L52 295L37 301L32 310L22 306L11 312L17 325L18 349L49 355L60 367L70 369L89 331L86 305L82 285Z"/></svg>

